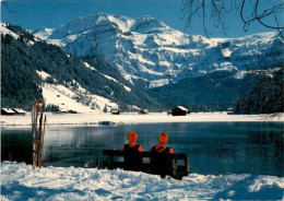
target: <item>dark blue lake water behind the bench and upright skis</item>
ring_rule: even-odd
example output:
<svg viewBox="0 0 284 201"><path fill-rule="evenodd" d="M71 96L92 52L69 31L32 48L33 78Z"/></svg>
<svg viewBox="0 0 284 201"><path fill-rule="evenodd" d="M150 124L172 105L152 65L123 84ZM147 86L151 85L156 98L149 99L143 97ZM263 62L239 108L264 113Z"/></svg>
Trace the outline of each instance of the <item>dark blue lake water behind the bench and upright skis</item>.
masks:
<svg viewBox="0 0 284 201"><path fill-rule="evenodd" d="M121 150L127 133L135 131L138 143L149 151L159 133L169 135L167 146L186 153L190 173L256 174L284 176L283 122L184 122L120 126L47 126L44 166L84 167L104 149ZM31 163L31 129L1 128L2 161Z"/></svg>

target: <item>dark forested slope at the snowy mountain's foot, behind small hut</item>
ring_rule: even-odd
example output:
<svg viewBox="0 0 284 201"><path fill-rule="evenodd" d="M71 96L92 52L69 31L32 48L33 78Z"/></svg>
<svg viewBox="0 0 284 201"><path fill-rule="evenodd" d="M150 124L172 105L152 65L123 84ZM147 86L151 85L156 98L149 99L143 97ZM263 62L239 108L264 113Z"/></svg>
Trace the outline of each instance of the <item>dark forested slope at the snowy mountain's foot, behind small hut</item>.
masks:
<svg viewBox="0 0 284 201"><path fill-rule="evenodd" d="M240 71L235 74L229 71L214 71L198 78L184 79L179 82L149 90L152 97L164 105L218 105L226 109L235 104L240 95L248 93L251 83L260 75ZM216 108L215 108L216 109Z"/></svg>

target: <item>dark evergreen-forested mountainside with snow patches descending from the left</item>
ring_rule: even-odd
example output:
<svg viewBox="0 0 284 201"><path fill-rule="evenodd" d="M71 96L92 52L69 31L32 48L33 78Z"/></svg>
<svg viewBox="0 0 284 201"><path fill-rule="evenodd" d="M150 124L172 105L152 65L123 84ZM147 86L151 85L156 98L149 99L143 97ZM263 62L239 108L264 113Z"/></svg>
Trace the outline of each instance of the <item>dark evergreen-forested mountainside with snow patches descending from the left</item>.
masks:
<svg viewBox="0 0 284 201"><path fill-rule="evenodd" d="M19 26L1 24L2 40L2 107L28 108L34 98L42 97L42 85L62 85L84 93L73 97L87 107L96 105L93 95L116 102L121 108L129 105L157 107L144 92L132 86L99 56L76 58L58 46L48 45ZM95 67L92 67L94 64ZM100 71L104 69L104 71ZM49 75L43 79L37 72ZM113 76L115 78L113 78Z"/></svg>

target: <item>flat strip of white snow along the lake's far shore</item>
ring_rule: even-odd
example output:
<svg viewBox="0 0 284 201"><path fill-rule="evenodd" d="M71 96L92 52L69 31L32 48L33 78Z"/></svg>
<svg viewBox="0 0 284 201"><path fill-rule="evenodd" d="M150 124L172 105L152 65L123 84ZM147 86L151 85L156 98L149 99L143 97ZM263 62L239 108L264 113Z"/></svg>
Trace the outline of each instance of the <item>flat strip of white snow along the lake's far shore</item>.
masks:
<svg viewBox="0 0 284 201"><path fill-rule="evenodd" d="M157 123L157 122L217 122L217 121L284 121L284 116L227 115L226 113L197 113L187 116L168 116L166 113L139 114L63 114L46 113L47 125L99 125L102 122ZM1 116L0 126L31 126L31 113L26 116Z"/></svg>

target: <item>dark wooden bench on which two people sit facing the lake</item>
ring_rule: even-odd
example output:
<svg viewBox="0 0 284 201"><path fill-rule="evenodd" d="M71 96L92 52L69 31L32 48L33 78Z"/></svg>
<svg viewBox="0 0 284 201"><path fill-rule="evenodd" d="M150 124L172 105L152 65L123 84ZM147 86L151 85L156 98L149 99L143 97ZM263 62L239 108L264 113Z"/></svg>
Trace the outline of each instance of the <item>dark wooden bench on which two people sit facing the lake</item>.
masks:
<svg viewBox="0 0 284 201"><path fill-rule="evenodd" d="M169 154L169 153L156 153L156 154L164 154L169 159L169 167L168 173L170 177L175 179L182 179L184 176L189 175L189 159L186 154ZM125 152L120 150L103 150L103 155L107 156L107 161L103 162L103 165L106 166L108 169L114 168L123 168L125 162L123 156ZM141 152L140 156L144 157L144 161L141 166L141 172L147 174L154 174L151 168L151 164L145 162L145 158L153 158L153 153L151 152ZM182 165L179 164L181 162ZM159 175L159 174L156 174Z"/></svg>

